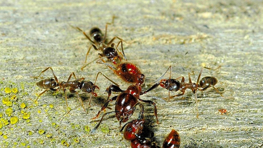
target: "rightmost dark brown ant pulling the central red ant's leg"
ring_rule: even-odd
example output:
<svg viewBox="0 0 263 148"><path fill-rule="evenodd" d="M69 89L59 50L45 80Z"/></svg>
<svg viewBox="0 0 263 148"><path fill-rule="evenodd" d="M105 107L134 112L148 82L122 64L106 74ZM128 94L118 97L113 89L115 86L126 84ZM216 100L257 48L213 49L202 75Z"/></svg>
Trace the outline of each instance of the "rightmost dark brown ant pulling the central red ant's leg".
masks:
<svg viewBox="0 0 263 148"><path fill-rule="evenodd" d="M209 70L217 70L218 68L220 68L221 66L217 67L216 69L211 69L208 67L203 67L202 70L200 71L198 78L197 78L197 83L192 83L191 81L191 77L190 77L190 73L188 73L188 77L189 77L189 83L185 82L185 78L183 76L180 76L178 78L175 79L171 79L171 71L172 71L172 67L170 66L165 73L159 78L157 79L155 82L157 82L156 84L154 84L151 88L149 88L148 90L146 90L144 93L149 92L150 90L153 90L154 88L158 87L159 85L163 88L166 88L168 90L168 102L170 101L170 98L174 98L177 96L182 96L184 95L185 91L187 88L191 89L192 92L195 94L195 98L196 98L196 110L197 110L197 115L196 117L198 118L198 108L197 108L197 94L196 91L204 91L209 87L213 87L214 90L216 90L216 92L218 92L222 97L224 97L219 91L218 89L216 89L214 87L214 85L217 84L218 80L215 77L211 77L211 76L206 76L200 79L201 74L204 70L204 68L209 69ZM170 69L170 76L169 79L162 79L163 76L168 72L168 70ZM182 78L181 82L178 81L178 79ZM199 81L200 80L200 81ZM199 84L198 84L199 83ZM202 88L202 89L200 89ZM176 92L180 90L182 93L181 94L177 94L174 96L170 96L170 91L172 92Z"/></svg>

